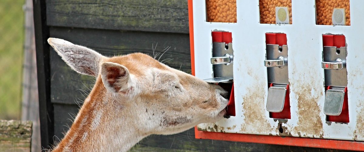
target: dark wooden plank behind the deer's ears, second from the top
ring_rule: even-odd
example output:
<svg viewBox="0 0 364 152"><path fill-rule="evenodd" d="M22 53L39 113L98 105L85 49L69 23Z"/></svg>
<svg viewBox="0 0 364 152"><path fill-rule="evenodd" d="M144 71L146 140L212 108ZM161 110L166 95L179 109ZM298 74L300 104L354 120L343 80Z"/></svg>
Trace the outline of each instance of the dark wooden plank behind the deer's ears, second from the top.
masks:
<svg viewBox="0 0 364 152"><path fill-rule="evenodd" d="M90 30L80 28L51 28L51 37L68 40L92 48L103 55L119 55L143 52L153 55L152 46L158 43L156 51L171 47L160 59L172 59L166 64L186 73L191 72L190 44L188 34L137 32L115 30ZM95 79L73 71L51 49L51 101L75 104L87 96ZM181 66L182 64L182 66ZM85 93L83 93L85 91Z"/></svg>

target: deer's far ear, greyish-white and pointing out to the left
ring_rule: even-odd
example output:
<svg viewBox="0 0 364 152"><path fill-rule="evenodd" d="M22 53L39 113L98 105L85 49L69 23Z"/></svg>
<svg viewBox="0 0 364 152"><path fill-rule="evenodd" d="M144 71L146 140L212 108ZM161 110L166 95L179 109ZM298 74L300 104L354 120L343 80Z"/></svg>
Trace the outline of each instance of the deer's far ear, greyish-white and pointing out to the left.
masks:
<svg viewBox="0 0 364 152"><path fill-rule="evenodd" d="M49 38L48 43L68 66L80 74L97 77L99 64L106 58L90 48L72 44L63 39Z"/></svg>

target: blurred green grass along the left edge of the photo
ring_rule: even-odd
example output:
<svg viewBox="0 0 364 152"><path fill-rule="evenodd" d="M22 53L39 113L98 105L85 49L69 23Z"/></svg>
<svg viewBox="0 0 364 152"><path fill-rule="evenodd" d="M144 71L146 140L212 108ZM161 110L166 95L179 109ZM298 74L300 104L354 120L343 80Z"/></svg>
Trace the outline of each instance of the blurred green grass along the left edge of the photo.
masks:
<svg viewBox="0 0 364 152"><path fill-rule="evenodd" d="M0 119L20 119L24 0L0 4Z"/></svg>

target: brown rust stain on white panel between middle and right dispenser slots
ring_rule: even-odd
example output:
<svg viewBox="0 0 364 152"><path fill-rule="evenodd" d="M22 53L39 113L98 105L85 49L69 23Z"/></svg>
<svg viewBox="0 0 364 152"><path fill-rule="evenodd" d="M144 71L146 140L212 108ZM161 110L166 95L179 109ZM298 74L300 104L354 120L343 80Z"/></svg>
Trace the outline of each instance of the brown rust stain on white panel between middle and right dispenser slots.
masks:
<svg viewBox="0 0 364 152"><path fill-rule="evenodd" d="M294 92L298 96L298 122L297 126L294 127L294 130L296 130L296 132L304 133L304 136L322 135L323 122L320 117L321 109L317 104L318 98L323 96L322 91L315 90L315 86L318 85L314 82L293 86L300 86L300 89ZM311 94L312 88L314 89L313 95ZM318 91L320 91L320 93L318 93Z"/></svg>

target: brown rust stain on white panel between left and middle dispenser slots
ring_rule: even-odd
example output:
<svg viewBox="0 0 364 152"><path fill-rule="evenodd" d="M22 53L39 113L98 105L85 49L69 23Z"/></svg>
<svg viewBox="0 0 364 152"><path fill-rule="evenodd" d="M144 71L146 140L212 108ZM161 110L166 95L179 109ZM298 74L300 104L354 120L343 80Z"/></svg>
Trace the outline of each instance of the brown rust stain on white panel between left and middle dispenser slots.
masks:
<svg viewBox="0 0 364 152"><path fill-rule="evenodd" d="M259 77L257 76L256 78ZM257 86L265 85L257 84ZM264 87L248 88L247 94L242 96L245 118L244 123L241 124L240 132L267 133L273 130L265 116L264 92Z"/></svg>

